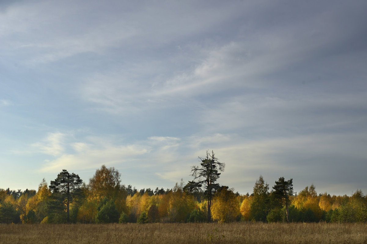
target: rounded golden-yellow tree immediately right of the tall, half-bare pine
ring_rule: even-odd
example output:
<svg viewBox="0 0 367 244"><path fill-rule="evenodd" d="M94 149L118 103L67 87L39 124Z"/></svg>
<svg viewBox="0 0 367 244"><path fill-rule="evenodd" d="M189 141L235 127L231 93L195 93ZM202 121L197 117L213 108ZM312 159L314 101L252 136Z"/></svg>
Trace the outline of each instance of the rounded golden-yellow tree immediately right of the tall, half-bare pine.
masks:
<svg viewBox="0 0 367 244"><path fill-rule="evenodd" d="M222 188L214 195L212 205L212 218L218 222L236 220L240 214L240 206L233 189Z"/></svg>

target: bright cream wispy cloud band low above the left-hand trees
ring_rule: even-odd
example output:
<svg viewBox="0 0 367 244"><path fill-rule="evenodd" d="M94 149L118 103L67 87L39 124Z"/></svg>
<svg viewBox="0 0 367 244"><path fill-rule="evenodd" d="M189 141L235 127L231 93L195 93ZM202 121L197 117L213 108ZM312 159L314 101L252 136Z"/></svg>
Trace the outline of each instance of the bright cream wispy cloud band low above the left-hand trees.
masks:
<svg viewBox="0 0 367 244"><path fill-rule="evenodd" d="M118 144L102 137L87 137L83 142L75 142L76 135L49 133L43 143L34 143L42 153L56 158L45 160L40 172L54 173L63 168L85 170L98 168L102 164L115 166L118 169L152 168L177 160L179 138L152 136L135 144ZM154 165L152 165L154 162Z"/></svg>

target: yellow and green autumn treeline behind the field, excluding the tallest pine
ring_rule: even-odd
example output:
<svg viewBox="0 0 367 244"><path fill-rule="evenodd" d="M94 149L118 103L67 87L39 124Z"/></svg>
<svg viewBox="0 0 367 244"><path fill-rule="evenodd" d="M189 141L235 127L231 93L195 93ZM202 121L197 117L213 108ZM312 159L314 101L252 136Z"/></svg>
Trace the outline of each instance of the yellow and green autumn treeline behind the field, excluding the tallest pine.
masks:
<svg viewBox="0 0 367 244"><path fill-rule="evenodd" d="M0 189L0 222L206 222L205 191L190 188L189 183L181 180L172 189L138 190L121 184L113 167L102 165L88 184L63 170L50 185L43 180L37 191ZM226 186L215 188L210 211L211 220L219 222L366 222L366 206L367 196L361 190L352 196L331 196L317 194L312 184L293 194L292 180L281 177L269 189L260 176L251 195Z"/></svg>

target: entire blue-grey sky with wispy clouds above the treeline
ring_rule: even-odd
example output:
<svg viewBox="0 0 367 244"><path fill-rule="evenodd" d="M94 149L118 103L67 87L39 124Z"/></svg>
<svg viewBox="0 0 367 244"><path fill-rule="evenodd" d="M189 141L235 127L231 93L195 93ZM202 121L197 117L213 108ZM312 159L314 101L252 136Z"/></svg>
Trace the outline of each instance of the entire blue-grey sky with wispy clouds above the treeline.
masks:
<svg viewBox="0 0 367 244"><path fill-rule="evenodd" d="M367 1L0 1L0 188L62 169L367 194Z"/></svg>

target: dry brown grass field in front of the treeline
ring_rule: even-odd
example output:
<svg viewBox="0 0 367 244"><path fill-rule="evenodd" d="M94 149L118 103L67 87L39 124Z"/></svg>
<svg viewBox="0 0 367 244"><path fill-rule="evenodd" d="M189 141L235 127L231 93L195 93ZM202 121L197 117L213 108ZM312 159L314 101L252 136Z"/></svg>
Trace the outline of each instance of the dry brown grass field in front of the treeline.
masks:
<svg viewBox="0 0 367 244"><path fill-rule="evenodd" d="M367 224L0 224L0 243L364 243Z"/></svg>

